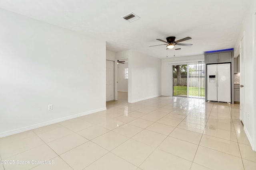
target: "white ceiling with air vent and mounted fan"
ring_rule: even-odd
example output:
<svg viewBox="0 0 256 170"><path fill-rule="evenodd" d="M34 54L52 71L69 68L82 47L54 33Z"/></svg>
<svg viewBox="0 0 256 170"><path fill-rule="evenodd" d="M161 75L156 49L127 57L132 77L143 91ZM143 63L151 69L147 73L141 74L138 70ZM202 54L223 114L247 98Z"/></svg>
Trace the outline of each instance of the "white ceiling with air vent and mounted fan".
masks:
<svg viewBox="0 0 256 170"><path fill-rule="evenodd" d="M166 47L156 39L176 40L191 47L175 56L234 48L241 23L252 0L0 0L0 8L71 29L106 41L109 51L134 49L166 58ZM140 17L129 23L130 12ZM168 50L168 57L174 50Z"/></svg>

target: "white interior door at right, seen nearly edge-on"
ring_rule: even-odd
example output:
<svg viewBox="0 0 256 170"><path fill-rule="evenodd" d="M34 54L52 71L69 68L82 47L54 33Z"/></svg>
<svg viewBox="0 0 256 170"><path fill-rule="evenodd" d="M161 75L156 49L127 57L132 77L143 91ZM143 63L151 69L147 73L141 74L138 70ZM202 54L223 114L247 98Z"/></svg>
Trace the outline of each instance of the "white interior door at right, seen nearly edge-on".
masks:
<svg viewBox="0 0 256 170"><path fill-rule="evenodd" d="M240 41L240 120L244 123L244 38Z"/></svg>

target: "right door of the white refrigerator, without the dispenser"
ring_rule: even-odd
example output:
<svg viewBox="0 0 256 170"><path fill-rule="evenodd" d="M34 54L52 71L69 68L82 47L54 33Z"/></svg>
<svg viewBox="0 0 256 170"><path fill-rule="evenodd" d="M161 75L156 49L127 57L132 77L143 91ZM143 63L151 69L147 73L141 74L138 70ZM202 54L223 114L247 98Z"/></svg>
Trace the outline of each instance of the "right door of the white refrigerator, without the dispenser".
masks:
<svg viewBox="0 0 256 170"><path fill-rule="evenodd" d="M231 70L230 63L217 64L218 102L231 103Z"/></svg>

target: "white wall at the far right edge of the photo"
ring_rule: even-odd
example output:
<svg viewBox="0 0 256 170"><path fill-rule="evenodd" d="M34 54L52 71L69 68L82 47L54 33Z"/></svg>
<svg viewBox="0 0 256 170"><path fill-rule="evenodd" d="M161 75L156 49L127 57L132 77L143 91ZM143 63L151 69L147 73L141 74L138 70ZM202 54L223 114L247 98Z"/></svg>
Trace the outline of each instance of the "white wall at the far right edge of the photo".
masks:
<svg viewBox="0 0 256 170"><path fill-rule="evenodd" d="M244 35L244 66L245 66L245 114L244 130L253 150L256 150L256 1L252 1L250 9L244 18L240 35L238 36L234 54L239 54L239 43ZM252 74L254 73L254 74Z"/></svg>

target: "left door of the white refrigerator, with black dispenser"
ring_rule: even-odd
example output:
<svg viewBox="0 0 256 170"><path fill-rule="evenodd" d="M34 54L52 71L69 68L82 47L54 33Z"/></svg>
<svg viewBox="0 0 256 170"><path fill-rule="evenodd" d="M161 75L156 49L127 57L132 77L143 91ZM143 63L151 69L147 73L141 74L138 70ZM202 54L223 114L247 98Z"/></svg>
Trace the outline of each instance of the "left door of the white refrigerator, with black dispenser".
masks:
<svg viewBox="0 0 256 170"><path fill-rule="evenodd" d="M207 64L207 100L218 101L217 76L217 64Z"/></svg>

